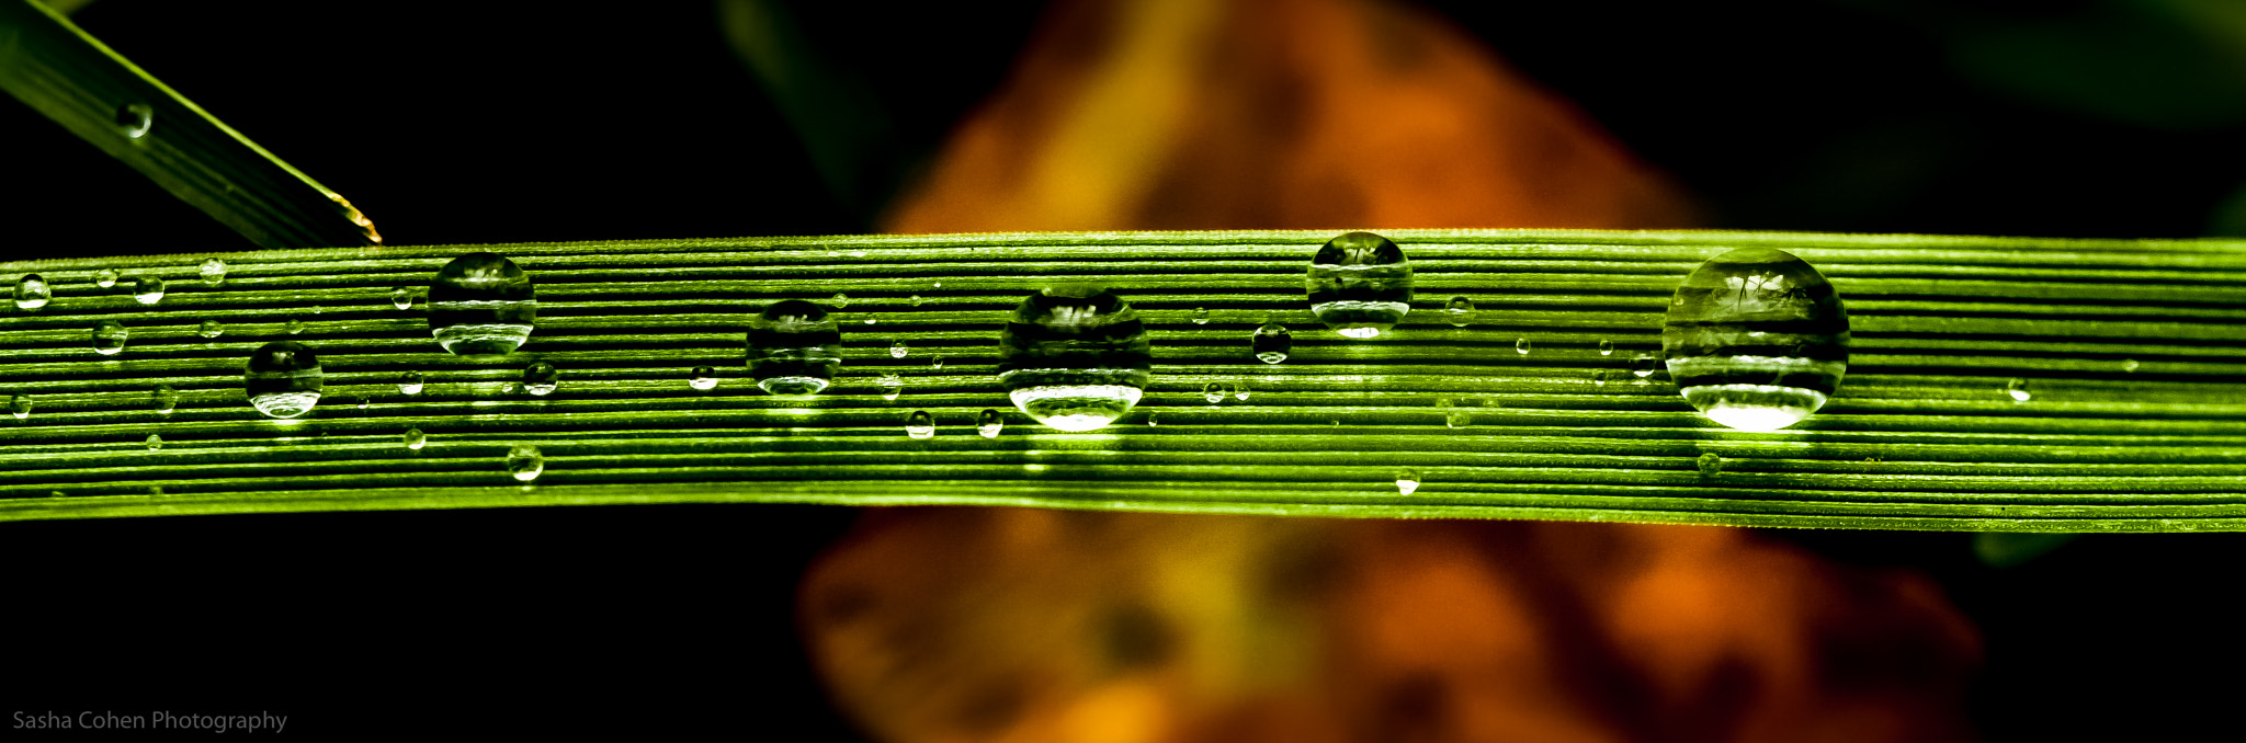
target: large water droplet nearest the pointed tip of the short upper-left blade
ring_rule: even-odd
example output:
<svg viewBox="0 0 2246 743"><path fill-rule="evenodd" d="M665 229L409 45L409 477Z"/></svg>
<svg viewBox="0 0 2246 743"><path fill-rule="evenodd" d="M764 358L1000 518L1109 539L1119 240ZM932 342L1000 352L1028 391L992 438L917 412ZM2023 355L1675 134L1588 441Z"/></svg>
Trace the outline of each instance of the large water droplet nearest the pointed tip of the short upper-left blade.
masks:
<svg viewBox="0 0 2246 743"><path fill-rule="evenodd" d="M499 254L451 258L429 281L429 332L456 355L514 352L537 314L530 276Z"/></svg>

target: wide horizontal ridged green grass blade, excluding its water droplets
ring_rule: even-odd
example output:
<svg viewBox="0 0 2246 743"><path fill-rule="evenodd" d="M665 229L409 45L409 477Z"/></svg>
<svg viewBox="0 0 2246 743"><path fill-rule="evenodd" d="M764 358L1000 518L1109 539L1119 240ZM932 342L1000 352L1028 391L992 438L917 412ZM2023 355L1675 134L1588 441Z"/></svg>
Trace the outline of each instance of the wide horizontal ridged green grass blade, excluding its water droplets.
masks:
<svg viewBox="0 0 2246 743"><path fill-rule="evenodd" d="M1148 512L1476 516L1990 532L2246 528L2246 242L2026 240L1720 231L1390 231L1417 301L1393 337L1318 328L1303 296L1332 233L1015 233L499 247L532 274L526 352L442 352L422 287L469 247L308 249L11 263L54 303L0 319L0 519L424 510L575 503L982 503ZM1848 303L1839 395L1788 431L1693 413L1662 375L1662 312L1700 260L1768 245L1817 265ZM157 274L139 305L90 274ZM1035 287L1092 281L1130 299L1154 341L1148 397L1119 424L1060 433L1015 413L997 332ZM779 299L847 292L847 361L811 402L764 395L741 332ZM919 296L919 299L914 299ZM1453 328L1451 296L1480 305ZM1208 323L1195 323L1195 310ZM130 328L117 357L90 328ZM874 323L865 323L874 319ZM1249 334L1289 325L1264 366ZM195 330L218 321L225 334ZM290 323L301 334L290 334ZM319 348L328 397L303 422L258 418L243 359ZM1527 339L1532 352L1516 352ZM889 355L907 341L903 359ZM1610 341L1613 355L1599 343ZM943 366L934 368L932 357ZM550 397L508 393L562 368ZM714 391L687 370L716 366ZM429 377L402 395L404 370ZM905 379L894 402L876 379ZM2033 397L2015 402L2010 379ZM1604 384L1599 382L1604 379ZM1247 402L1208 404L1208 382ZM180 391L157 413L150 391ZM357 402L364 400L364 406ZM1444 406L1442 402L1451 402ZM984 409L1006 413L995 440ZM930 411L939 433L905 435ZM1471 424L1446 426L1467 411ZM1159 415L1159 418L1157 418ZM1159 422L1159 424L1150 424ZM409 451L407 429L427 431ZM166 442L148 451L144 440ZM532 487L512 444L548 462ZM1696 467L1720 456L1720 471ZM1399 469L1422 487L1397 492ZM63 496L52 496L61 492Z"/></svg>

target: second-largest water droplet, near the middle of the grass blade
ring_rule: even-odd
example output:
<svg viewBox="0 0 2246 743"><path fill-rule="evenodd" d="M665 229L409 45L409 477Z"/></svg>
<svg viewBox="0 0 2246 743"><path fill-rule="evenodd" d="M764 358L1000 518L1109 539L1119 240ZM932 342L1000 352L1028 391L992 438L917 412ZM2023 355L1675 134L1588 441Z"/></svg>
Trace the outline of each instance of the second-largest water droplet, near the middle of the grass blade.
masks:
<svg viewBox="0 0 2246 743"><path fill-rule="evenodd" d="M1123 418L1145 393L1152 352L1145 325L1107 290L1031 294L999 334L999 384L1013 404L1060 431Z"/></svg>

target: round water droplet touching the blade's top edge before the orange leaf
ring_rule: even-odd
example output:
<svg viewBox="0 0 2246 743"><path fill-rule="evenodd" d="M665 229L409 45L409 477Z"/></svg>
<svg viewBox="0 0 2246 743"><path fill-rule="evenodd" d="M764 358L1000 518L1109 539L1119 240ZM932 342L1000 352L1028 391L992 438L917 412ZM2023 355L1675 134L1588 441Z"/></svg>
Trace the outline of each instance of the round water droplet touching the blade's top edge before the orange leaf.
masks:
<svg viewBox="0 0 2246 743"><path fill-rule="evenodd" d="M1309 258L1309 312L1325 328L1370 339L1410 312L1410 263L1404 249L1370 231L1343 233Z"/></svg>

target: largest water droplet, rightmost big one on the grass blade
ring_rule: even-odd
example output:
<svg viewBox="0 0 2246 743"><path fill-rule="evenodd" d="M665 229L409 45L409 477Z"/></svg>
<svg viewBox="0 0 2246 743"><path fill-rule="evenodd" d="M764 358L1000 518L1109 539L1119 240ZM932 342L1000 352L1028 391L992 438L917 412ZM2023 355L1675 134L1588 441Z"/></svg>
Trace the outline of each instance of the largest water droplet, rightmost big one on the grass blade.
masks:
<svg viewBox="0 0 2246 743"><path fill-rule="evenodd" d="M1662 359L1684 402L1741 431L1817 413L1848 368L1848 312L1815 267L1768 247L1702 263L1678 285Z"/></svg>

